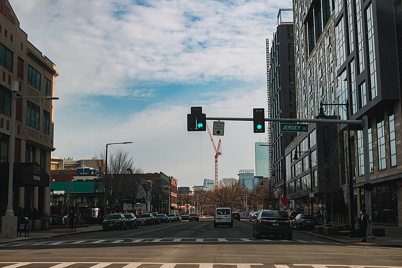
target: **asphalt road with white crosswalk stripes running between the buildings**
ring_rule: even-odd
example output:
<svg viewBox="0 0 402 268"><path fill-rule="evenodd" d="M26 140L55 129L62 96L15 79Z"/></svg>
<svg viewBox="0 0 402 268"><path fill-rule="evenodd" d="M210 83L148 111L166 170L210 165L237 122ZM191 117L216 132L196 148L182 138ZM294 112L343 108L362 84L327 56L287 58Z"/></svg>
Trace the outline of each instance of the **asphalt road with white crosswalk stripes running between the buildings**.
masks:
<svg viewBox="0 0 402 268"><path fill-rule="evenodd" d="M124 267L125 264L117 262L401 266L400 252L400 248L344 245L303 231L294 231L291 241L281 237L255 239L250 221L235 221L233 228L214 228L212 220L200 220L2 244L0 267L7 266L5 262L16 261L78 263L75 264L78 266L71 267L105 267L105 263L109 262L116 262L117 266L108 264L108 267ZM99 263L84 265L83 262ZM140 267L160 267L162 264L142 264ZM52 266L43 263L30 265L24 267ZM177 267L186 266L190 267Z"/></svg>

